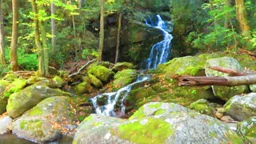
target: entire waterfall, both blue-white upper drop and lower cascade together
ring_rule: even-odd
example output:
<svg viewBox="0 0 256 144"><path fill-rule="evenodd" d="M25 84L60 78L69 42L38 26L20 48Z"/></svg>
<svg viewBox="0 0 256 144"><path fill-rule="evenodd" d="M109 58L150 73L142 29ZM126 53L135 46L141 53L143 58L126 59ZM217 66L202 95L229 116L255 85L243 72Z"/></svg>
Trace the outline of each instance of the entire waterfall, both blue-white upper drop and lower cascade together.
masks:
<svg viewBox="0 0 256 144"><path fill-rule="evenodd" d="M152 20L150 20L150 23L146 21L146 25L161 30L164 39L161 42L158 42L154 46L152 46L150 50L150 57L147 58L145 62L142 62L142 65L145 65L142 67L145 67L145 69L155 69L158 66L158 64L167 62L170 52L170 42L173 37L171 34L169 34L170 31L168 30L166 23L162 21L160 15L157 15L157 18L158 22L156 23L156 25L154 25ZM126 112L126 106L124 105L124 101L132 87L137 83L145 82L149 78L150 76L148 75L139 76L136 82L131 83L128 86L124 86L116 92L98 94L94 98L91 98L91 102L94 105L96 114L102 114L113 117L124 115ZM101 98L103 98L106 101L106 103L100 104L99 101ZM120 106L118 107L118 110L116 110L116 105L118 102L120 102Z"/></svg>

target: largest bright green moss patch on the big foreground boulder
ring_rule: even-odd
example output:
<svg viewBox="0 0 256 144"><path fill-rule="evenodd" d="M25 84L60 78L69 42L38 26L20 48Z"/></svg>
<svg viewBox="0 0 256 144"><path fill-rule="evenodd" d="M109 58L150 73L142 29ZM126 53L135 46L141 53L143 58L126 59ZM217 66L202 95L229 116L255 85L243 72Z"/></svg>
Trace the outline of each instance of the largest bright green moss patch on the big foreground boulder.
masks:
<svg viewBox="0 0 256 144"><path fill-rule="evenodd" d="M135 143L166 143L170 134L174 134L170 123L162 119L143 119L122 124L118 128L120 138Z"/></svg>

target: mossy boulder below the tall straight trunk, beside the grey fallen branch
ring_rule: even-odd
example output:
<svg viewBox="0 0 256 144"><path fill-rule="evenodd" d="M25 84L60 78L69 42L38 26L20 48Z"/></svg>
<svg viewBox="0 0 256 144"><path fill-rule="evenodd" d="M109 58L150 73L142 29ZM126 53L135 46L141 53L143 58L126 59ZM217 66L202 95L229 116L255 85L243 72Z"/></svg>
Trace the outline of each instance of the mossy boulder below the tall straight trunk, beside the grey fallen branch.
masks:
<svg viewBox="0 0 256 144"><path fill-rule="evenodd" d="M97 66L95 64L92 64L87 68L87 74L93 74L102 82L109 82L110 78L114 75L114 72L106 68L105 66Z"/></svg>

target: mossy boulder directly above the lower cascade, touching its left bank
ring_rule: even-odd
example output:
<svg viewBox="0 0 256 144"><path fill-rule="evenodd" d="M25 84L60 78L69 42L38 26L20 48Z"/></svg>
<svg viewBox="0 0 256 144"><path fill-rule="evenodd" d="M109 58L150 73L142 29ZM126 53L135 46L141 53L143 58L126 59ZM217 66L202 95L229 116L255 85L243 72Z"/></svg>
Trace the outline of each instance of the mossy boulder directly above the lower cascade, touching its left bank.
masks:
<svg viewBox="0 0 256 144"><path fill-rule="evenodd" d="M114 87L114 89L119 89L134 82L136 77L136 70L126 69L118 71L117 74L114 74L114 81L112 82L112 86Z"/></svg>

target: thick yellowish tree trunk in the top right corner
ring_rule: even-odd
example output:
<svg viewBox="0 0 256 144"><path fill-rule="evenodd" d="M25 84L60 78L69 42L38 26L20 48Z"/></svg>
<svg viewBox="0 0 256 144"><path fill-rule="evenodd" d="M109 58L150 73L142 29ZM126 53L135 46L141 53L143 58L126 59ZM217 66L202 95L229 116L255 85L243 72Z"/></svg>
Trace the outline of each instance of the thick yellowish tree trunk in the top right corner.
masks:
<svg viewBox="0 0 256 144"><path fill-rule="evenodd" d="M236 16L240 26L242 36L245 38L251 38L250 26L246 18L246 10L244 6L244 0L234 0L236 5Z"/></svg>

